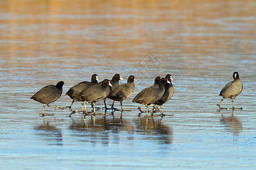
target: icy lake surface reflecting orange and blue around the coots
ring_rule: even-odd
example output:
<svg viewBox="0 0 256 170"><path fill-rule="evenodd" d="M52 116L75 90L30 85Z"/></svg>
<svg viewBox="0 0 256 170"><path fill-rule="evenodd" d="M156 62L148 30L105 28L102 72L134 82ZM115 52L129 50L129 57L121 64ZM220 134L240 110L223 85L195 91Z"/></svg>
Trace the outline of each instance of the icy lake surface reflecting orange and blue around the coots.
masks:
<svg viewBox="0 0 256 170"><path fill-rule="evenodd" d="M0 169L255 169L255 8L254 1L1 1ZM243 83L234 104L243 109L220 112L218 94L234 71ZM72 101L65 92L94 73L100 80L119 73L119 83L135 75L123 101L131 112L82 121L46 107L54 116L43 121L43 104L30 99L36 91L63 80L52 105L65 107ZM166 74L174 96L163 109L174 116L139 116L131 100Z"/></svg>

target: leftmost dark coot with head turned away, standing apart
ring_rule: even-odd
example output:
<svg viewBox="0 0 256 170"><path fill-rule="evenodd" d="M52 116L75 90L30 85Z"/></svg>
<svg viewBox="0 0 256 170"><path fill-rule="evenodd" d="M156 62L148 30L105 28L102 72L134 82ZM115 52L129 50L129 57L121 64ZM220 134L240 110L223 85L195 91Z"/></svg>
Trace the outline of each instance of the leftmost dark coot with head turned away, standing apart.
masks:
<svg viewBox="0 0 256 170"><path fill-rule="evenodd" d="M63 81L60 81L55 85L48 85L43 87L42 89L40 89L38 92L36 92L32 97L30 97L30 99L33 99L35 101L38 101L40 103L43 103L43 112L42 115L44 116L44 108L46 107L46 105L48 107L55 107L60 109L60 107L56 107L56 106L50 106L48 105L49 103L52 103L53 101L56 101L57 99L59 99L59 97L62 94L62 87L64 85ZM62 108L61 108L62 109Z"/></svg>

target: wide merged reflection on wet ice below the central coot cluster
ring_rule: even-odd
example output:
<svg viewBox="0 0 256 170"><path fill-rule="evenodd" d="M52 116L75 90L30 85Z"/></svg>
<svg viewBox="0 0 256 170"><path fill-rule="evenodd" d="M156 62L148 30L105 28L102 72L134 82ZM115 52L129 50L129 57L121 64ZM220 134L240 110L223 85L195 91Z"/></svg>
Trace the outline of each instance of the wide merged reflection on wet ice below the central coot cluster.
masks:
<svg viewBox="0 0 256 170"><path fill-rule="evenodd" d="M126 120L116 116L91 116L86 121L75 120L69 129L80 142L102 143L110 145L122 141L147 140L158 143L172 143L172 130L162 124L163 117L143 117L136 120ZM81 138L82 137L82 138Z"/></svg>

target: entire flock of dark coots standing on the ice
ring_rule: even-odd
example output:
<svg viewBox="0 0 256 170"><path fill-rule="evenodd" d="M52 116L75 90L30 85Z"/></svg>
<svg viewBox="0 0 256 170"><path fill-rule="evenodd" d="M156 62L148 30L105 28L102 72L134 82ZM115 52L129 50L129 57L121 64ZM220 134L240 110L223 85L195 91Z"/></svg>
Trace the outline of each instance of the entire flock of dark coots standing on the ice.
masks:
<svg viewBox="0 0 256 170"><path fill-rule="evenodd" d="M234 107L234 98L241 93L243 85L237 72L233 73L233 78L234 80L226 84L226 86L220 92L220 96L222 96L220 104L218 104L218 107L220 109L227 109L220 106L222 100L227 97L232 99L233 107L231 109L242 109ZM84 115L96 114L95 103L102 99L104 100L105 109L108 109L105 102L105 99L108 98L113 100L111 109L115 109L114 101L119 101L121 105L121 109L119 109L119 111L130 111L123 109L122 101L127 99L127 97L130 97L131 94L133 94L135 88L134 81L137 80L133 75L129 76L129 78L127 79L127 83L119 85L119 80L123 80L121 75L115 74L112 80L104 79L102 82L98 83L98 75L93 74L90 82L80 82L67 91L66 95L71 97L73 101L69 107L65 108L69 108L70 111L72 111L71 107L73 103L75 101L81 101L83 113L82 115L84 117ZM151 113L151 116L164 116L162 105L170 100L172 95L174 94L174 86L172 86L171 80L173 79L170 74L167 74L165 78L160 78L160 76L156 76L155 82L152 86L144 88L141 92L139 92L139 94L133 99L133 103L139 104L139 111L143 112L141 109L141 104L143 104L146 106L146 116L148 116L148 113ZM64 107L49 105L49 103L52 103L53 101L59 99L63 92L63 85L64 82L60 81L56 84L56 86L45 86L30 98L44 104L42 112L43 116L46 115L44 114L44 108L46 107L46 105L48 107L64 109ZM85 107L84 102L86 102ZM86 112L86 105L88 103L92 103L93 105L93 111L91 113ZM161 110L159 110L156 105L160 105ZM148 107L153 107L152 111L149 112ZM161 114L154 114L154 112L161 112Z"/></svg>

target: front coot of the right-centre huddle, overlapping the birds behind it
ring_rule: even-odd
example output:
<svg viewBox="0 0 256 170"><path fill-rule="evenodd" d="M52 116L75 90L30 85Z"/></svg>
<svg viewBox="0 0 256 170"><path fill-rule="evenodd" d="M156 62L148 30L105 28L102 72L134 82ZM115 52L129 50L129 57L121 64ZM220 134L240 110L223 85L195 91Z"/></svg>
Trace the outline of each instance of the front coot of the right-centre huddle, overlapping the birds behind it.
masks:
<svg viewBox="0 0 256 170"><path fill-rule="evenodd" d="M166 78L160 79L158 87L151 86L146 90L142 90L141 92L139 92L137 96L134 97L133 103L136 102L136 103L146 105L146 108L147 108L146 113L148 114L148 106L151 106L150 104L155 103L163 96L164 90L165 90L164 85L166 83L170 83Z"/></svg>

